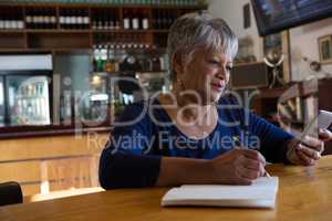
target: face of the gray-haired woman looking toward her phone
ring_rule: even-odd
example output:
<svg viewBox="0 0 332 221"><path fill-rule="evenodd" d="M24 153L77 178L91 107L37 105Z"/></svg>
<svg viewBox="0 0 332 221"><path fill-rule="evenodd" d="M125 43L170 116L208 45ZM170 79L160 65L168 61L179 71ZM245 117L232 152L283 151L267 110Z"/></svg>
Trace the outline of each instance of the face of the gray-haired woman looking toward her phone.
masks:
<svg viewBox="0 0 332 221"><path fill-rule="evenodd" d="M197 50L191 61L183 64L177 77L183 82L185 93L195 93L201 103L210 104L220 98L231 69L232 60L225 53Z"/></svg>

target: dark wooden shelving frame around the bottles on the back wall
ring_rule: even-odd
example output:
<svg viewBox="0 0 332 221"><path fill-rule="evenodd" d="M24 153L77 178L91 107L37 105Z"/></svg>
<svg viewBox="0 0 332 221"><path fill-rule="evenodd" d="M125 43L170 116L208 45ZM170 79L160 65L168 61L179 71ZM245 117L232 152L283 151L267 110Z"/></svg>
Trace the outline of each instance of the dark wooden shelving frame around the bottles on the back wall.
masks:
<svg viewBox="0 0 332 221"><path fill-rule="evenodd" d="M52 10L56 17L55 29L25 29L27 13L33 10ZM154 15L158 12L172 13L179 17L183 13L206 9L206 6L153 6L153 4L87 4L87 3L0 3L0 11L9 10L20 14L24 21L22 30L0 30L0 52L35 52L38 50L82 50L92 49L97 39L107 36L123 38L131 35L155 48L165 48L168 29L155 28ZM60 15L65 10L84 10L90 18L86 29L62 29ZM147 30L125 30L123 28L124 11L145 13L148 18ZM112 12L116 15L120 29L93 29L93 20L98 13ZM107 40L107 41L112 41Z"/></svg>

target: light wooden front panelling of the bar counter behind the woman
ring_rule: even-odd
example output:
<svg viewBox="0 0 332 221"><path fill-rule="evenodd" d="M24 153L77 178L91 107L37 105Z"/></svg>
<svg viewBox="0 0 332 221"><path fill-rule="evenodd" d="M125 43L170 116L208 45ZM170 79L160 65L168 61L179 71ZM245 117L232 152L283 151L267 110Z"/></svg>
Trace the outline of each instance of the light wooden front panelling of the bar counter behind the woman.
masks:
<svg viewBox="0 0 332 221"><path fill-rule="evenodd" d="M98 186L98 155L108 134L0 140L0 182L18 181L24 196ZM81 156L82 155L82 156Z"/></svg>

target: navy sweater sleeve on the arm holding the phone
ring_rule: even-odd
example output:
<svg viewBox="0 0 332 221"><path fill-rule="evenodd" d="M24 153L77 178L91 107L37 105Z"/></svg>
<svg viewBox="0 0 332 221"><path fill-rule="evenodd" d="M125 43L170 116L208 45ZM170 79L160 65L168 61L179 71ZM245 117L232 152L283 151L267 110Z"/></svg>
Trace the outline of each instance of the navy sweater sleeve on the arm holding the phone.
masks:
<svg viewBox="0 0 332 221"><path fill-rule="evenodd" d="M252 113L248 113L247 116L249 116L248 129L259 138L260 152L266 159L270 162L287 164L287 143L293 136Z"/></svg>

